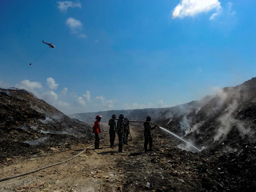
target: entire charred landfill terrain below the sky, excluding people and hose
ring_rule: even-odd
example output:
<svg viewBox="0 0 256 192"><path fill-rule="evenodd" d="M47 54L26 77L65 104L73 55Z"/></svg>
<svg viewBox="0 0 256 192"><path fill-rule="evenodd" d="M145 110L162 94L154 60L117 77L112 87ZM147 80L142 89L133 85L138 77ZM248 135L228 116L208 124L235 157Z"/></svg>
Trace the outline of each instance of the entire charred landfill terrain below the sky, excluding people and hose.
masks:
<svg viewBox="0 0 256 192"><path fill-rule="evenodd" d="M218 90L216 95L208 95L200 101L171 108L71 116L80 121L65 116L43 100L33 98L34 95L25 90L1 89L1 178L13 175L17 170L18 173L31 171L41 167L41 163L58 162L67 154L78 154L85 147L83 143L92 137L91 128L80 121L92 123L95 115L103 116L102 125L105 126L112 114L124 114L134 121L145 121L149 115L154 123L177 137L160 128L153 130L155 150L145 154L142 124L130 123L133 140L130 138L130 145L124 146L124 153L109 148L108 141L105 141L101 143L103 149L89 150L85 156L68 163L69 166L63 164L45 170L41 179L42 173L33 173L14 182L4 181L0 183L0 191L29 191L30 188L33 191L256 190L256 78ZM63 131L66 134L62 134ZM80 134L84 137L79 137ZM37 143L36 147L32 145L31 142L38 142L46 136L47 142ZM103 129L101 138L107 136L108 129ZM67 142L70 145L67 146ZM49 146L54 148L49 150ZM46 157L31 158L31 153L36 155L38 149ZM13 157L17 154L22 158ZM33 162L33 167L29 162ZM20 166L26 169L20 170Z"/></svg>

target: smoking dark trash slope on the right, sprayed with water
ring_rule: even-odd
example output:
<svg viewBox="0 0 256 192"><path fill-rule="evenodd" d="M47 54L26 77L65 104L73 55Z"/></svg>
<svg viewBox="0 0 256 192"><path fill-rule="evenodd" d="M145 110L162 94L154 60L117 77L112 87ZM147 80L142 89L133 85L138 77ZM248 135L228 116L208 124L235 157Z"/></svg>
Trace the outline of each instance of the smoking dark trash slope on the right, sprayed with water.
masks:
<svg viewBox="0 0 256 192"><path fill-rule="evenodd" d="M119 111L115 112L119 115ZM207 95L199 101L171 108L134 109L126 112L126 117L133 121L145 121L149 115L154 123L202 150L196 151L173 136L166 139L175 141L166 148L176 146L178 149L166 149L162 156L169 157L170 161L178 158L175 166L180 167L180 172L188 169L186 164L195 170L193 177L195 182L199 182L200 188L196 189L197 186L185 191L255 191L256 78L235 87L218 89L215 95ZM110 114L111 112L109 118ZM87 115L89 114L80 114L78 119L86 118ZM176 157L173 159L173 156ZM127 164L127 170L129 167ZM170 178L173 173L163 174L166 174L164 177ZM139 180L141 174L134 173L130 177ZM159 178L152 179L153 183L160 184L159 181ZM196 185L195 182L191 185ZM142 189L144 188L137 188ZM179 190L170 186L165 189L161 188L159 191Z"/></svg>

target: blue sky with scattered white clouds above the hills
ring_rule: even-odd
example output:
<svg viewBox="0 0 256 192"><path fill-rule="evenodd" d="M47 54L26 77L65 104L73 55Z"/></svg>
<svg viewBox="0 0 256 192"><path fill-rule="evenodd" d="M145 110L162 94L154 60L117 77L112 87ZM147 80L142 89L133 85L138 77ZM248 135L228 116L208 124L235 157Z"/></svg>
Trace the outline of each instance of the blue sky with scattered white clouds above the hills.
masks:
<svg viewBox="0 0 256 192"><path fill-rule="evenodd" d="M1 1L0 87L66 114L199 100L255 77L255 10L250 0Z"/></svg>

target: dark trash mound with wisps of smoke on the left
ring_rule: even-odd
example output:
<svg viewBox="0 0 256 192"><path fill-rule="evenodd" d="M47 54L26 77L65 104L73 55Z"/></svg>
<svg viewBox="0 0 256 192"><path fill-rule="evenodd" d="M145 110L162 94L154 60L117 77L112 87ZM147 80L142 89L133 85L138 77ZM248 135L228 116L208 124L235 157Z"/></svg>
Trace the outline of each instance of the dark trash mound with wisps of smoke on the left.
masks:
<svg viewBox="0 0 256 192"><path fill-rule="evenodd" d="M0 162L65 143L91 141L91 127L70 118L34 94L0 88Z"/></svg>

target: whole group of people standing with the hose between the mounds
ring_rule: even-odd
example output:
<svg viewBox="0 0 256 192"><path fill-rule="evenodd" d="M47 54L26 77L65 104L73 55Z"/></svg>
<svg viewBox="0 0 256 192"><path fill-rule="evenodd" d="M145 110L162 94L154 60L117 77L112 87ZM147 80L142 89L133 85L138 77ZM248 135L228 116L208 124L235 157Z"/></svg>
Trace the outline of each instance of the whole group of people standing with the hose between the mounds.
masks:
<svg viewBox="0 0 256 192"><path fill-rule="evenodd" d="M128 145L128 136L130 134L130 126L129 126L129 120L127 118L124 118L123 114L120 114L118 119L116 119L116 115L112 115L111 118L109 119L108 125L109 125L109 138L110 138L110 147L114 148L114 142L115 142L115 137L116 133L118 135L118 151L122 152L123 151L123 144ZM102 116L97 115L96 116L96 121L94 122L93 126L93 133L95 134L95 142L94 142L94 149L101 149L99 147L100 145L100 120ZM117 123L115 122L117 121ZM155 125L154 127L150 126L151 117L147 116L146 122L143 124L144 125L144 149L145 153L147 151L153 151L152 145L153 145L153 139L151 137L151 131L155 129L156 127L159 127L158 125ZM149 143L149 149L147 148Z"/></svg>

